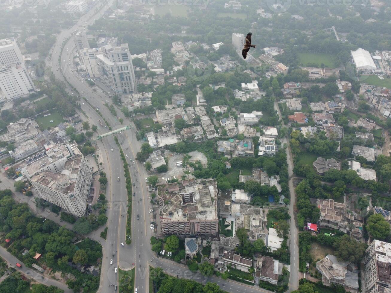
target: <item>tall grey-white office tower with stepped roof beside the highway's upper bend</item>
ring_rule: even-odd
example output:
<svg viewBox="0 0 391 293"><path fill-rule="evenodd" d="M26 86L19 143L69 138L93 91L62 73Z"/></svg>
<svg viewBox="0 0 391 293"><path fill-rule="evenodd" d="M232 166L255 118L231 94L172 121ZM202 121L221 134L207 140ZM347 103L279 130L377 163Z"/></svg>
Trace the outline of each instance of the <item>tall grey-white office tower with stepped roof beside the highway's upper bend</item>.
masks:
<svg viewBox="0 0 391 293"><path fill-rule="evenodd" d="M101 47L102 54L95 55L100 81L117 95L136 93L135 71L129 46L110 44Z"/></svg>

